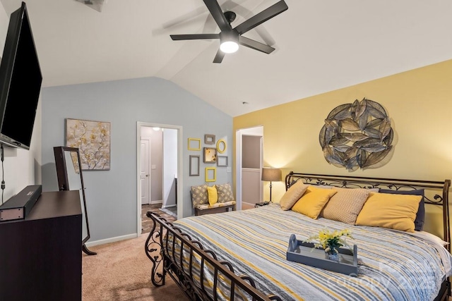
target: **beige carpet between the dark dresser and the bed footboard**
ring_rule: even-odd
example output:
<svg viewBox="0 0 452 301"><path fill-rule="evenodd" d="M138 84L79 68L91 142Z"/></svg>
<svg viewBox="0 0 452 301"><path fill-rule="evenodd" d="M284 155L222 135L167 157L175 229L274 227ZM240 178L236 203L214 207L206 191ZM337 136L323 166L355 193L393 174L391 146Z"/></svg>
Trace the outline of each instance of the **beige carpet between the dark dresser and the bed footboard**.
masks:
<svg viewBox="0 0 452 301"><path fill-rule="evenodd" d="M156 288L150 281L152 263L145 254L147 235L89 247L97 255L82 253L83 301L189 300L172 279Z"/></svg>

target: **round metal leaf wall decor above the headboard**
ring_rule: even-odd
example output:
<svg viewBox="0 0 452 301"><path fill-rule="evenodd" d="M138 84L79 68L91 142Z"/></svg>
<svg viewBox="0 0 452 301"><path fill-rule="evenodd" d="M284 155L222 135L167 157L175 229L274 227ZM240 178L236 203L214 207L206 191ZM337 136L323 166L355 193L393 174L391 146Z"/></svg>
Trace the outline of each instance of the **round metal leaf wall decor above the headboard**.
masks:
<svg viewBox="0 0 452 301"><path fill-rule="evenodd" d="M383 106L364 98L335 107L320 130L319 142L328 163L356 171L388 159L393 137Z"/></svg>

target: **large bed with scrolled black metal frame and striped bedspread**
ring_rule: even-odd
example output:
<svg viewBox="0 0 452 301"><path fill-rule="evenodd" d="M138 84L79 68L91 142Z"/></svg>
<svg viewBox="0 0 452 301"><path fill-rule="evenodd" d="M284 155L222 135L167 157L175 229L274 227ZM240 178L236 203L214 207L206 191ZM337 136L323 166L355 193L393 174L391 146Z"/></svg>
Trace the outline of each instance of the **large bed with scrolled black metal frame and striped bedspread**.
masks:
<svg viewBox="0 0 452 301"><path fill-rule="evenodd" d="M452 275L450 180L290 172L285 177L286 195L299 183L325 190L371 190L372 196L381 196L380 191L389 193L388 190L397 192L396 195L422 190L425 207L432 206L434 211L440 211L442 237L427 231L355 226L322 215L313 219L292 209L283 210L283 203L192 216L174 223L149 211L147 215L153 219L153 228L145 242L145 252L152 262L153 285L165 285L165 277L169 275L191 300L398 301L447 300L451 295L448 280ZM369 199L366 203L371 204ZM364 206L369 211L366 203ZM428 218L429 214L426 216ZM324 228L350 229L352 243L359 250L357 275L340 274L286 259L290 235L304 240Z"/></svg>

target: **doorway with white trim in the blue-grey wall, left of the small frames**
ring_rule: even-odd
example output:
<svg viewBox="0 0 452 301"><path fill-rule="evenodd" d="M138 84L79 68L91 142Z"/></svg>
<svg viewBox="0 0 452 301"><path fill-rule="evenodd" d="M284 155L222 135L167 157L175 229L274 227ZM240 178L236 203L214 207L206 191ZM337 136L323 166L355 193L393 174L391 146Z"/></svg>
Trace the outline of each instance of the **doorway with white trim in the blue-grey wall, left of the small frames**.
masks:
<svg viewBox="0 0 452 301"><path fill-rule="evenodd" d="M161 210L177 209L177 218L182 218L182 127L138 122L136 131L139 236L143 219L148 219L142 214L143 204ZM153 152L153 147L157 151Z"/></svg>

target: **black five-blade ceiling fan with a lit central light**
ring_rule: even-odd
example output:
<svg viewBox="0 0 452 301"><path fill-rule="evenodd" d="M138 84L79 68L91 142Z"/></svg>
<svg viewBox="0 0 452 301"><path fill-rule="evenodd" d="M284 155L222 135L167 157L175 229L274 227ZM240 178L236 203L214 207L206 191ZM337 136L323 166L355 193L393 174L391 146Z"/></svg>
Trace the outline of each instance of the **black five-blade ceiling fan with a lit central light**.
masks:
<svg viewBox="0 0 452 301"><path fill-rule="evenodd" d="M220 33L206 33L206 34L192 34L192 35L169 35L174 41L180 41L185 39L220 39L220 49L218 49L213 63L221 63L225 54L230 54L239 49L239 44L251 49L262 51L266 54L270 54L273 47L270 47L261 42L257 42L254 39L243 37L242 35L254 27L261 25L270 18L283 13L287 10L287 4L284 0L278 1L269 8L264 9L256 16L245 20L243 23L232 28L231 23L235 20L236 14L233 11L222 12L217 0L203 0L206 4L210 14L220 27Z"/></svg>

